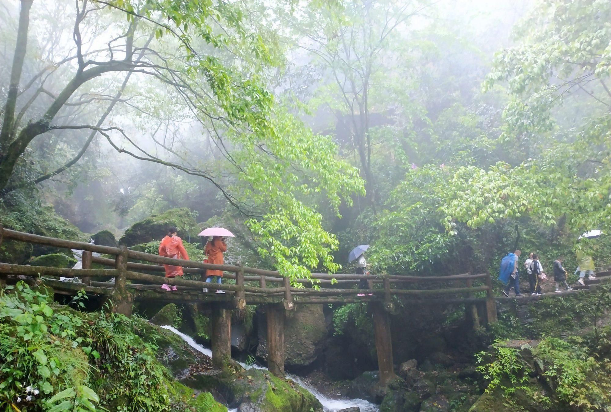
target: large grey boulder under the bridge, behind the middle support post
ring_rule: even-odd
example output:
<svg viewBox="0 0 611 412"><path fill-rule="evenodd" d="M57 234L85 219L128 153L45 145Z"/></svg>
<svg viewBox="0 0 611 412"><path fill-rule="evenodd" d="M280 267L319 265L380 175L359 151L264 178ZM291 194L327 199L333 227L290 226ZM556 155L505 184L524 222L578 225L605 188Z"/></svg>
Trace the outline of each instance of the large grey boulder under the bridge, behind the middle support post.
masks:
<svg viewBox="0 0 611 412"><path fill-rule="evenodd" d="M298 305L285 320L284 347L287 366L307 366L316 360L327 335L322 305ZM267 356L266 327L259 328L257 356Z"/></svg>

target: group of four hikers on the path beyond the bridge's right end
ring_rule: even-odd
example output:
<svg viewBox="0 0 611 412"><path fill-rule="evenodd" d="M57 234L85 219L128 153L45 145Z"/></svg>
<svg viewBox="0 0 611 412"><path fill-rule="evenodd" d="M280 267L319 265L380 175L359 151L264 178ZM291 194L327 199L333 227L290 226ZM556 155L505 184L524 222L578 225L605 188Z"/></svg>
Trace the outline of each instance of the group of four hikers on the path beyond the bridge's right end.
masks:
<svg viewBox="0 0 611 412"><path fill-rule="evenodd" d="M513 288L516 296L524 296L520 292L520 273L518 270L519 258L522 255L520 250L516 250L514 253L508 253L501 260L499 280L505 284L503 289L503 295L509 297L509 292ZM560 287L563 286L566 291L572 291L573 287L566 283L566 269L562 266L564 261L563 256L558 256L554 261L554 282L556 284L556 293L560 293ZM588 275L588 280L596 278L594 273L594 260L591 256L585 255L583 252L577 253L577 262L579 266L575 271L575 274L579 272L579 280L577 283L584 286L585 275ZM530 253L529 258L524 261L524 270L527 273L529 280L529 291L531 295L543 295L541 291L541 282L547 280L547 275L543 271L543 265L539 260L539 255L536 253Z"/></svg>

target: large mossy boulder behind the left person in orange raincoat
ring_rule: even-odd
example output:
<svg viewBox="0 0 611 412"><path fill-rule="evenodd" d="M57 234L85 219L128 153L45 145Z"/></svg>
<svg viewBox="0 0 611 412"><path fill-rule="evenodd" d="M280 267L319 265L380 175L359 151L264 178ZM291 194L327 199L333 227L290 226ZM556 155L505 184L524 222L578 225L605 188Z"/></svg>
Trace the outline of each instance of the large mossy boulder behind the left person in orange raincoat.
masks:
<svg viewBox="0 0 611 412"><path fill-rule="evenodd" d="M160 214L152 215L146 219L136 222L125 231L119 244L134 246L160 241L167 234L167 229L174 226L180 236L186 242L196 242L199 228L194 215L189 209L170 209Z"/></svg>

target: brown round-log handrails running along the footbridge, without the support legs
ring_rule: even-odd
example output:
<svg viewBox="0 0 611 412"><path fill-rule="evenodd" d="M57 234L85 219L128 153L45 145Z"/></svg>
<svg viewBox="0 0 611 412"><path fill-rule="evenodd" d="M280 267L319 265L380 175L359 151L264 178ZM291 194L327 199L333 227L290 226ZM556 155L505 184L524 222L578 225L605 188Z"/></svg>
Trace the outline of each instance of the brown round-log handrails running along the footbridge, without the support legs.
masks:
<svg viewBox="0 0 611 412"><path fill-rule="evenodd" d="M492 281L488 274L480 273L471 275L464 273L461 275L450 275L450 276L403 276L403 275L357 275L357 274L329 274L329 273L312 273L311 279L297 279L291 280L288 277L280 275L276 270L258 269L253 267L244 267L241 265L216 265L210 263L203 263L198 261L188 261L184 259L173 259L166 258L164 256L153 255L151 253L145 253L141 251L130 250L125 246L120 247L109 247L95 244L89 244L86 242L77 242L74 240L57 239L54 237L40 236L37 234L24 233L15 231L12 229L6 229L0 225L0 244L3 239L18 240L21 242L49 245L59 248L70 248L77 250L84 250L83 253L83 269L60 269L54 267L35 267L35 266L20 266L6 263L0 263L0 273L13 273L27 276L63 276L67 278L73 278L76 276L82 277L83 283L91 284L90 278L92 276L98 276L103 278L115 278L114 288L125 288L125 281L144 281L151 284L170 284L174 286L181 286L187 289L203 289L208 288L211 290L223 289L224 291L230 292L236 300L236 304L239 308L243 308L246 305L246 293L252 297L254 294L276 296L282 295L285 303L285 308L293 308L293 296L298 295L301 298L312 298L316 295L318 297L324 297L325 295L350 295L354 294L354 289L324 289L320 287L291 287L298 284L312 284L313 286L317 283L335 283L337 281L342 283L354 283L356 281L368 280L372 283L383 283L383 289L359 289L359 292L368 294L375 293L378 295L379 292L383 292L384 302L390 305L392 295L434 295L434 294L467 294L472 296L473 292L486 291L486 300L493 300L492 294ZM114 255L115 259L101 258L92 256L92 252L97 252L105 255ZM128 259L137 259L140 261L155 263L144 264L139 262L129 262ZM90 269L92 262L103 264L104 266L114 266L115 269ZM165 278L163 276L149 275L147 273L134 272L134 270L146 270L146 271L163 271L163 267L159 264L170 264L172 266L183 267L186 273L205 273L207 269L222 270L224 272L230 272L225 275L227 278L235 279L235 284L224 283L218 285L216 283L204 283L203 280L187 280L182 278ZM133 269L133 270L130 270ZM255 276L245 276L245 273L249 273ZM203 276L202 276L203 277ZM472 281L477 279L485 280L484 286L472 286ZM244 281L259 281L260 287L246 286ZM281 283L280 287L266 287L266 282ZM468 287L453 287L444 289L391 289L391 283L432 283L440 281L466 281ZM98 283L97 283L98 284ZM111 286L109 284L109 286ZM137 285L134 285L137 286ZM95 287L99 290L100 285ZM93 291L93 288L92 288Z"/></svg>

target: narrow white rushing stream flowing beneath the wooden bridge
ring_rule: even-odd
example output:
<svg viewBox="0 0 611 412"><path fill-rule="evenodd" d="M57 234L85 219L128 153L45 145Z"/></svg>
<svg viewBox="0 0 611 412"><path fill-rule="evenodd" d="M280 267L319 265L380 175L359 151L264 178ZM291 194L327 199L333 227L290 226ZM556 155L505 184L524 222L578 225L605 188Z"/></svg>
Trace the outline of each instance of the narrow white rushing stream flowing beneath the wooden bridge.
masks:
<svg viewBox="0 0 611 412"><path fill-rule="evenodd" d="M187 342L189 346L191 346L193 349L197 350L198 352L201 352L206 356L212 356L212 351L210 349L205 348L202 345L198 344L196 341L193 340L193 338L191 338L191 336L186 335L171 326L162 326L162 328L174 332L175 334L180 336L183 339L183 341ZM254 368L254 369L267 370L267 368L258 366L255 364L247 365L241 362L240 364L244 367L244 369ZM302 388L307 389L313 396L315 396L316 399L318 399L320 403L322 403L325 412L335 412L335 411L350 408L350 407L359 407L360 412L378 412L379 411L378 405L375 405L374 403L371 403L371 402L367 402L367 400L332 399L326 395L321 394L315 388L313 388L312 385L305 383L304 381L302 381L299 377L296 377L295 375L287 374L287 378L294 380L296 383L298 383L298 385L302 386ZM232 410L229 410L228 412L237 412L237 411L238 411L237 409L232 409Z"/></svg>

